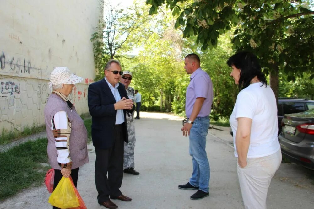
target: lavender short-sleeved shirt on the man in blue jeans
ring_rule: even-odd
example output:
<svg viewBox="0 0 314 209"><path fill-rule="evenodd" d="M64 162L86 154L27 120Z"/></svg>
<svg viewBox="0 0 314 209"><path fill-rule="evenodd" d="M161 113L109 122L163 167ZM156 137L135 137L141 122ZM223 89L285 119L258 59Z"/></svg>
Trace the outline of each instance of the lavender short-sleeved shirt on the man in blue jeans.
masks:
<svg viewBox="0 0 314 209"><path fill-rule="evenodd" d="M197 117L208 116L211 111L214 95L212 80L201 68L194 71L190 79L190 84L187 87L186 93L185 114L187 115L187 118L189 118L192 114L196 98L204 97L205 101Z"/></svg>

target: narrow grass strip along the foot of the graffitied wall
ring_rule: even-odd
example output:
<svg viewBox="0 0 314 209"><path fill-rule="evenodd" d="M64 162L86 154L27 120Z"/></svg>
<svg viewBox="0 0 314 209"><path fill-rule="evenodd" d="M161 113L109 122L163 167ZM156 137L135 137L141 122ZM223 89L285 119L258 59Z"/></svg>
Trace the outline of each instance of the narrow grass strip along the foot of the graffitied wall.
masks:
<svg viewBox="0 0 314 209"><path fill-rule="evenodd" d="M8 144L11 141L21 138L21 137L25 137L25 136L29 136L31 134L35 134L35 133L39 133L41 131L44 131L46 128L45 125L41 125L41 126L35 126L35 124L33 126L26 126L24 127L23 131L15 131L15 130L6 130L6 129L2 129L1 135L0 135L0 145L1 144Z"/></svg>

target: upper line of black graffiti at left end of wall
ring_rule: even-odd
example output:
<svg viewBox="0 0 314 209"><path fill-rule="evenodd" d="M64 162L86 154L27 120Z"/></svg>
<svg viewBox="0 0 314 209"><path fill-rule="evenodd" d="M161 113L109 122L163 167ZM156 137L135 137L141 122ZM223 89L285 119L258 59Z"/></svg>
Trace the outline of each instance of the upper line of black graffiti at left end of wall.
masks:
<svg viewBox="0 0 314 209"><path fill-rule="evenodd" d="M19 75L32 74L37 78L41 78L43 71L40 67L32 66L30 60L9 56L9 54L4 53L4 51L0 54L0 67L3 72L16 73ZM45 71L47 71L47 69L48 66L46 66Z"/></svg>

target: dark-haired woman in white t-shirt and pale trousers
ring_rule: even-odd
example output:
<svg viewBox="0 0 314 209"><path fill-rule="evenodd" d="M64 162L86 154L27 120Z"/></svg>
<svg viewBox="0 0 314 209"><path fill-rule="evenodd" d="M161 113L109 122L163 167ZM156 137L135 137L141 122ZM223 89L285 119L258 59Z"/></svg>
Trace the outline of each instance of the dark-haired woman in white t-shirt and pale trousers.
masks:
<svg viewBox="0 0 314 209"><path fill-rule="evenodd" d="M244 206L266 208L268 187L281 163L276 98L255 55L239 52L227 64L240 90L229 121Z"/></svg>

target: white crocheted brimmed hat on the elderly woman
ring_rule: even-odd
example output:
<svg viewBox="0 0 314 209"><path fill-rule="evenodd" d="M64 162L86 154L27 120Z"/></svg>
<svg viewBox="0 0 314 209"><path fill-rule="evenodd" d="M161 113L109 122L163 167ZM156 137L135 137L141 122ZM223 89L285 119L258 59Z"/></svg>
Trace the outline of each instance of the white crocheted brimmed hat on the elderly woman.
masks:
<svg viewBox="0 0 314 209"><path fill-rule="evenodd" d="M69 68L67 67L55 67L50 74L50 81L48 84L50 87L52 85L58 84L75 84L83 81L82 77L74 75L70 72Z"/></svg>

